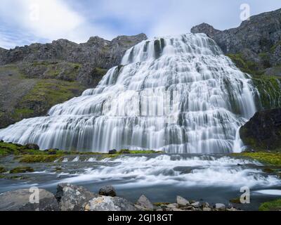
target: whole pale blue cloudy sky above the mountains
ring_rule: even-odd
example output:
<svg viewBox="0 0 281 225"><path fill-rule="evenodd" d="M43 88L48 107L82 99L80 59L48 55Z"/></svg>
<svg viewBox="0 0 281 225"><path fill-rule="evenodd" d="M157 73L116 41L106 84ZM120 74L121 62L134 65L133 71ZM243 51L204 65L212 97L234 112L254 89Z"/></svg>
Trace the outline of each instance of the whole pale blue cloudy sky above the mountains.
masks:
<svg viewBox="0 0 281 225"><path fill-rule="evenodd" d="M0 47L141 32L152 38L190 32L200 23L226 30L242 23L242 4L250 15L281 8L280 0L1 0Z"/></svg>

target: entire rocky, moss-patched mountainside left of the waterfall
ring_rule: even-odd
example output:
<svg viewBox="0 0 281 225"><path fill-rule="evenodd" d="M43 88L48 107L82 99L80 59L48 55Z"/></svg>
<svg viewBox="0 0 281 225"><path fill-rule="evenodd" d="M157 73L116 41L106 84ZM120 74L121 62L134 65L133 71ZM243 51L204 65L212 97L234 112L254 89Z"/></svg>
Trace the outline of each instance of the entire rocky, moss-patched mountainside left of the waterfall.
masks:
<svg viewBox="0 0 281 225"><path fill-rule="evenodd" d="M145 34L138 34L112 41L91 37L84 44L60 39L0 48L0 129L46 115L53 105L95 87L107 69L121 63L127 49L145 39Z"/></svg>

